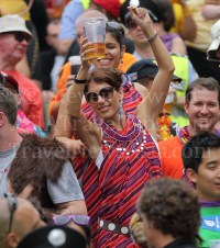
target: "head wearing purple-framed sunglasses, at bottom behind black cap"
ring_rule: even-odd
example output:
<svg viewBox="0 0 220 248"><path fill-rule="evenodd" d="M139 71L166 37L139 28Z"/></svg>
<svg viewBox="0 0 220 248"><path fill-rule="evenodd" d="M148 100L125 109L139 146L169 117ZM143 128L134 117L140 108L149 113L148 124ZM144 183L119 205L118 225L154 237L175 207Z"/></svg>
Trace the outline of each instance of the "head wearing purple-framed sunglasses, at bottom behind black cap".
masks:
<svg viewBox="0 0 220 248"><path fill-rule="evenodd" d="M86 215L59 215L53 217L53 223L57 226L67 226L84 236L87 248L91 245L90 217Z"/></svg>

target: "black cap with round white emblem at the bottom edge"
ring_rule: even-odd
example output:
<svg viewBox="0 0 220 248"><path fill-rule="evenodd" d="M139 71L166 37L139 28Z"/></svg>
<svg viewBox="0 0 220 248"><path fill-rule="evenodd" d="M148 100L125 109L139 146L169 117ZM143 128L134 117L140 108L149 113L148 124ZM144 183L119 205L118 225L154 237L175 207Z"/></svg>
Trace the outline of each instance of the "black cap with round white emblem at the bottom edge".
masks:
<svg viewBox="0 0 220 248"><path fill-rule="evenodd" d="M28 234L16 248L86 248L86 239L66 226L44 226Z"/></svg>

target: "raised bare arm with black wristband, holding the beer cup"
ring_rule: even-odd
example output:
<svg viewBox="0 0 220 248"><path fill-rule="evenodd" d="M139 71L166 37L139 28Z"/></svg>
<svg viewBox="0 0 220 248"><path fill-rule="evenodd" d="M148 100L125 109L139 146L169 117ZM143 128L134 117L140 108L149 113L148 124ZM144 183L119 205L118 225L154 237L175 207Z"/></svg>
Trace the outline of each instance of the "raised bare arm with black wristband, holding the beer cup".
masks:
<svg viewBox="0 0 220 248"><path fill-rule="evenodd" d="M85 50L85 48L90 45L89 43L86 44L86 42L87 38L84 38L81 46L81 67L76 76L76 80L73 81L73 84L67 92L67 115L73 125L73 131L77 134L80 140L85 143L90 157L96 160L101 147L101 131L98 126L88 122L86 115L80 111L85 89L85 83L82 82L86 82L87 79L87 74L90 67L89 60L94 59L86 58L85 55L95 50L95 48ZM76 81L78 81L78 83L76 83Z"/></svg>

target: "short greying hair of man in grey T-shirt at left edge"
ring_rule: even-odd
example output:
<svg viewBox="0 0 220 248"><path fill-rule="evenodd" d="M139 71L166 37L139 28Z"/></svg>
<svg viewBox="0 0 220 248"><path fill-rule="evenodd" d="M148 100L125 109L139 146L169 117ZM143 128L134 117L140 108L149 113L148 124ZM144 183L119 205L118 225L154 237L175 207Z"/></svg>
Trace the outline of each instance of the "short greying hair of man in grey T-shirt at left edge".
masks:
<svg viewBox="0 0 220 248"><path fill-rule="evenodd" d="M1 86L0 86L0 112L3 112L6 114L11 125L15 125L18 114L16 101L11 91Z"/></svg>

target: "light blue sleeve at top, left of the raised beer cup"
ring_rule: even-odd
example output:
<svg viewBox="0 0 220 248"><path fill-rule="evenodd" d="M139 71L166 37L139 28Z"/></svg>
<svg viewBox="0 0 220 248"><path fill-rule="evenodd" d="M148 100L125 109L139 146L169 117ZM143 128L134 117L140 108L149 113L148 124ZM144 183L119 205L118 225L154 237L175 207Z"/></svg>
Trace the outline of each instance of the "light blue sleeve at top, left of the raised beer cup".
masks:
<svg viewBox="0 0 220 248"><path fill-rule="evenodd" d="M62 38L75 38L76 27L75 23L77 18L84 12L82 4L79 0L70 1L63 11L61 30L58 34L58 40Z"/></svg>

